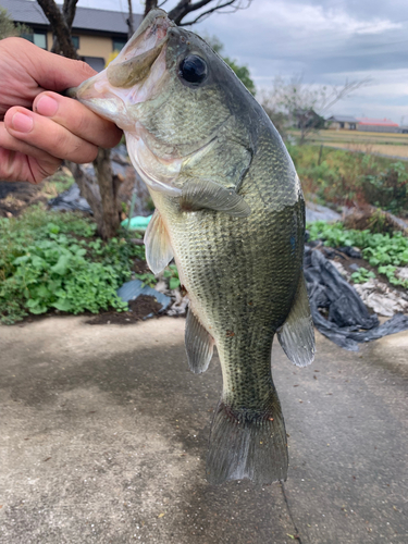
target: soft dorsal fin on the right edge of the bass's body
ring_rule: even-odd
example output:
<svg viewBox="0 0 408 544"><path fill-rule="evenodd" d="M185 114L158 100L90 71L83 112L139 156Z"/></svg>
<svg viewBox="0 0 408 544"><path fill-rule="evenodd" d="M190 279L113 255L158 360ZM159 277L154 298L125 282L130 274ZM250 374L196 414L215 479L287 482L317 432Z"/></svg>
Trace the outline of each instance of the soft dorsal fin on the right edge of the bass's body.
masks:
<svg viewBox="0 0 408 544"><path fill-rule="evenodd" d="M286 321L277 331L277 338L287 358L298 367L314 359L314 330L304 274L300 276L294 305Z"/></svg>

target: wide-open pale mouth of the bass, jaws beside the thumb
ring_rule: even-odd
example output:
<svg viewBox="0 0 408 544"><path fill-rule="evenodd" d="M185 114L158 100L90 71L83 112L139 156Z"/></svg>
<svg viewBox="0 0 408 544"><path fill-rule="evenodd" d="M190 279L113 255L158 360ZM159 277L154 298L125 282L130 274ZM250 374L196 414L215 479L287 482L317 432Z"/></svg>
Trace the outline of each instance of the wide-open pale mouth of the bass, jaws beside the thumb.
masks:
<svg viewBox="0 0 408 544"><path fill-rule="evenodd" d="M71 96L121 128L132 129L134 120L126 109L159 94L166 72L168 30L175 26L163 10L151 10L108 67Z"/></svg>

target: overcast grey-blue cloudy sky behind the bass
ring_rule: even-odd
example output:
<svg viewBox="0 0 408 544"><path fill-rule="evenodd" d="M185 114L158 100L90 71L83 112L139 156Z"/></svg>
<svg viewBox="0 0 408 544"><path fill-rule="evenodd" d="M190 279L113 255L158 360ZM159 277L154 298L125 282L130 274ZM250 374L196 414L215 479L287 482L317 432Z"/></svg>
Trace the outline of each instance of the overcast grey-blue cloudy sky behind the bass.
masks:
<svg viewBox="0 0 408 544"><path fill-rule="evenodd" d="M175 0L163 8L170 10ZM84 8L125 11L127 0L79 0ZM135 13L143 2L133 0ZM309 84L371 83L332 113L390 118L408 124L407 0L252 0L248 10L212 14L195 25L247 64L258 88L276 75Z"/></svg>

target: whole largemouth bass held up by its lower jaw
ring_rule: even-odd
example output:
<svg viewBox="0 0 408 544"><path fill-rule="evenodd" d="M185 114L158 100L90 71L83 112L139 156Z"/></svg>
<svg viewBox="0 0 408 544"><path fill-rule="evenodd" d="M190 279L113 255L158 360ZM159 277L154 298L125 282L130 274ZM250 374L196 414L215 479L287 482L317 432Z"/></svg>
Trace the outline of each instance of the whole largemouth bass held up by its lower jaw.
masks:
<svg viewBox="0 0 408 544"><path fill-rule="evenodd" d="M276 335L292 362L313 359L302 274L299 178L271 121L197 35L151 11L76 97L124 129L156 205L146 232L154 273L175 259L189 310L189 368L223 374L209 443L211 483L285 480L287 440L272 381Z"/></svg>

